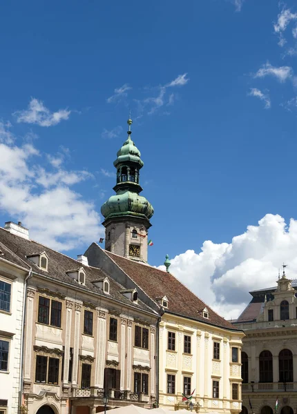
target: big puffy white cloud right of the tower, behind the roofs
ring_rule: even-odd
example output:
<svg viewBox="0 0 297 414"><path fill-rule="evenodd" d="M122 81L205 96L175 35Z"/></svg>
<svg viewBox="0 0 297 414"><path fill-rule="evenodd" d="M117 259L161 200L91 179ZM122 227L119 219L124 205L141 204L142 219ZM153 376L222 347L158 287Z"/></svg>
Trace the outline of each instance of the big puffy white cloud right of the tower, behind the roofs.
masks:
<svg viewBox="0 0 297 414"><path fill-rule="evenodd" d="M250 301L250 290L276 286L283 262L287 277L296 278L297 220L287 226L280 215L267 214L230 244L208 240L201 250L171 259L171 273L215 311L234 319Z"/></svg>

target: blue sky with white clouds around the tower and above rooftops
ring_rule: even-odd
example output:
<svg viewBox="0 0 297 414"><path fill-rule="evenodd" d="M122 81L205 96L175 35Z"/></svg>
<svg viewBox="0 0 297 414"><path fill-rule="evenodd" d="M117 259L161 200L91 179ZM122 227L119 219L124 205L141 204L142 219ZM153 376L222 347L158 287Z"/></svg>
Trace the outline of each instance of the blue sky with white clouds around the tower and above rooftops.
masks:
<svg viewBox="0 0 297 414"><path fill-rule="evenodd" d="M98 240L130 108L149 262L225 315L294 275L296 26L289 0L2 3L1 222L73 257Z"/></svg>

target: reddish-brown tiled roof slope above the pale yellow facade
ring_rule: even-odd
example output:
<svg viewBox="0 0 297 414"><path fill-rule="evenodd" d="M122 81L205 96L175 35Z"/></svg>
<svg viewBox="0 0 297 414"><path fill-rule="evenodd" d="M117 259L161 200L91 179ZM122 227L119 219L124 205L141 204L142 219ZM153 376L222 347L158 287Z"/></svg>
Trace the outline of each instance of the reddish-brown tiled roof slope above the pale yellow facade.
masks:
<svg viewBox="0 0 297 414"><path fill-rule="evenodd" d="M205 324L212 324L237 331L236 327L215 313L207 304L191 292L191 290L186 288L182 282L171 275L171 273L164 272L147 264L134 262L131 259L126 259L106 250L103 251L151 299L155 301L157 297L164 297L166 295L169 300L169 313L175 313L204 322ZM207 308L209 311L208 319L203 317L202 311L204 308Z"/></svg>

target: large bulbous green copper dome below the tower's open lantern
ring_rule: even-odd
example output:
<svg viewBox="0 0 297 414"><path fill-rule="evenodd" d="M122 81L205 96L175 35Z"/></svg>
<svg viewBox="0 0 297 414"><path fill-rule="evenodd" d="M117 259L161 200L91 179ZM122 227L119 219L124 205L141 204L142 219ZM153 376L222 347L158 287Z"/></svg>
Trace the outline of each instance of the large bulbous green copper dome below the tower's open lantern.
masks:
<svg viewBox="0 0 297 414"><path fill-rule="evenodd" d="M124 215L150 219L153 216L153 206L142 195L126 190L109 197L103 204L101 213L105 219Z"/></svg>

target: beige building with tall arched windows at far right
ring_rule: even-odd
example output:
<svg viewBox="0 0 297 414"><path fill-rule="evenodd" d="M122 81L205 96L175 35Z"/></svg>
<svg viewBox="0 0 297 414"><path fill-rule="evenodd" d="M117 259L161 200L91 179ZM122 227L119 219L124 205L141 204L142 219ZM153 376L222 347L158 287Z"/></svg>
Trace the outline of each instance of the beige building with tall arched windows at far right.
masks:
<svg viewBox="0 0 297 414"><path fill-rule="evenodd" d="M277 286L251 292L234 326L245 331L242 346L242 414L297 411L296 281L285 270Z"/></svg>

